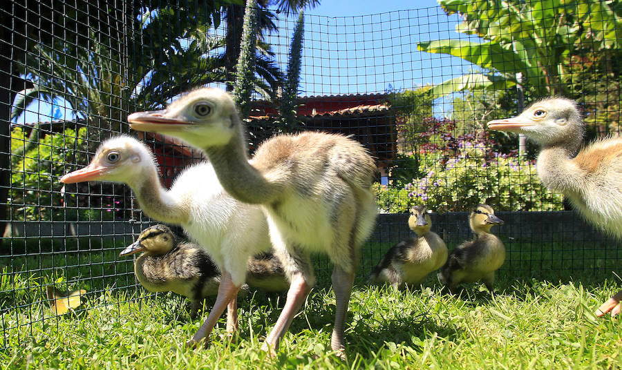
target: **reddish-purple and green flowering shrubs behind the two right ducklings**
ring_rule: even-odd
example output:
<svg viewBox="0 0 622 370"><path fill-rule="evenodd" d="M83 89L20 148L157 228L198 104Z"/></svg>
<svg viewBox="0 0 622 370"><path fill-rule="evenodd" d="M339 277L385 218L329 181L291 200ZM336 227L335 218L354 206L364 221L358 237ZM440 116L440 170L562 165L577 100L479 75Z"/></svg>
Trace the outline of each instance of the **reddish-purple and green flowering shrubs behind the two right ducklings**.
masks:
<svg viewBox="0 0 622 370"><path fill-rule="evenodd" d="M499 211L563 209L562 195L540 183L535 164L515 151L495 151L487 131L455 136L455 121L429 117L424 123L417 148L391 169L393 188L375 186L381 211L407 212L413 204L464 211L478 203Z"/></svg>

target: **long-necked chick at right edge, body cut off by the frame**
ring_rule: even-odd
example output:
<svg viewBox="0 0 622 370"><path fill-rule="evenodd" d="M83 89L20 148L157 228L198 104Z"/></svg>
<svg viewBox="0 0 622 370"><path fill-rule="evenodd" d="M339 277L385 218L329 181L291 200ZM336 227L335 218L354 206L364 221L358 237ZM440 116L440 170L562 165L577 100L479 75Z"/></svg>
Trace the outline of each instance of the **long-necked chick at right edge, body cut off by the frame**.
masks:
<svg viewBox="0 0 622 370"><path fill-rule="evenodd" d="M622 137L585 146L584 125L576 102L549 97L520 115L488 123L493 130L522 133L540 144L538 177L547 188L563 193L587 222L622 238ZM620 313L622 291L596 310Z"/></svg>

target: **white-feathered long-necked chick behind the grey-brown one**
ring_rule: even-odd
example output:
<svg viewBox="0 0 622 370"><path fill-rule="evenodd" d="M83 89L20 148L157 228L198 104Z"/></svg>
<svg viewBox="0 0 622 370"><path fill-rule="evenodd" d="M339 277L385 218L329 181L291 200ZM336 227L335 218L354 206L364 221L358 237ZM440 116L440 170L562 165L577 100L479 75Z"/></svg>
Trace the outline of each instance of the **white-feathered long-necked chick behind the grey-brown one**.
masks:
<svg viewBox="0 0 622 370"><path fill-rule="evenodd" d="M102 142L88 166L64 175L60 181L128 184L144 213L154 220L182 226L209 253L218 269L227 271L225 286L230 282L242 286L249 258L270 251L261 209L229 196L209 163L186 168L166 189L160 183L153 153L133 137L112 137ZM223 289L221 278L218 295ZM237 329L236 297L231 295L225 302L229 333Z"/></svg>

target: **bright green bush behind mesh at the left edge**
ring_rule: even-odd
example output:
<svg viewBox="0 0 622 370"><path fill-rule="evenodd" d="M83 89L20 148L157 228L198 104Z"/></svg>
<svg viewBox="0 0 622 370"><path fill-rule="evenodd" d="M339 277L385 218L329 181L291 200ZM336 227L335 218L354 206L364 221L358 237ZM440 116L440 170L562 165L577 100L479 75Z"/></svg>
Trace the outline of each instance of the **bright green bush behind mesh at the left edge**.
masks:
<svg viewBox="0 0 622 370"><path fill-rule="evenodd" d="M64 220L59 177L64 164L86 162L86 128L67 128L64 133L49 133L23 155L11 157L10 204L13 220ZM28 145L28 137L19 126L11 130L11 151ZM75 211L75 210L74 210ZM75 220L77 216L73 215Z"/></svg>

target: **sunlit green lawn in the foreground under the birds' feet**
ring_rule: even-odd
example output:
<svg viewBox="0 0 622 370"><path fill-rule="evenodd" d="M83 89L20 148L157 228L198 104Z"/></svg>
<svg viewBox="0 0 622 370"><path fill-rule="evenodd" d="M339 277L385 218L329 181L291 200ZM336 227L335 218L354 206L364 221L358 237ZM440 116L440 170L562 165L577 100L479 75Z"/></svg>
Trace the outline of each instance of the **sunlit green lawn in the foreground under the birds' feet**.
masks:
<svg viewBox="0 0 622 370"><path fill-rule="evenodd" d="M44 304L3 311L3 328L17 329L3 331L8 349L0 363L8 369L616 369L622 324L592 311L618 286L587 273L569 282L502 273L496 295L471 284L457 297L441 293L432 276L409 291L359 281L345 362L327 351L334 295L323 286L312 291L274 359L260 347L283 295L249 293L240 299L238 335L222 338L223 318L209 347L193 351L182 344L202 320L189 320L187 300L104 289L89 293L91 308L75 314L55 317Z"/></svg>

